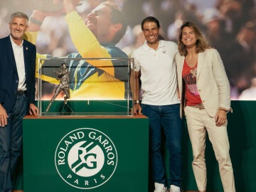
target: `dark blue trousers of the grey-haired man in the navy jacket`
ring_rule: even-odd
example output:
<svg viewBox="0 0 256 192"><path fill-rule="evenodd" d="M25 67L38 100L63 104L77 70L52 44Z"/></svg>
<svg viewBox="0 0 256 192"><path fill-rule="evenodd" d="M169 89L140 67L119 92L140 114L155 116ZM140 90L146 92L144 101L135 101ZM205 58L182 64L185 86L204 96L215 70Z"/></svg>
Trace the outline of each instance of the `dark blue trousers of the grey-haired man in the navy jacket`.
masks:
<svg viewBox="0 0 256 192"><path fill-rule="evenodd" d="M0 127L0 192L11 192L17 159L22 153L22 119L28 109L26 94L17 95L7 125Z"/></svg>

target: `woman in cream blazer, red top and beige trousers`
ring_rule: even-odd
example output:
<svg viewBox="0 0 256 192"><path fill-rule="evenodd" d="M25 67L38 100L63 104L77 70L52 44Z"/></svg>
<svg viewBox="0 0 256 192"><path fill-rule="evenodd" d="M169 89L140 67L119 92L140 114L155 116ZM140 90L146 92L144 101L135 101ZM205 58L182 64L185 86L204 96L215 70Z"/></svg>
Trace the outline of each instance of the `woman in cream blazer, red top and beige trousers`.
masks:
<svg viewBox="0 0 256 192"><path fill-rule="evenodd" d="M198 28L183 23L176 54L181 116L184 112L193 149L193 172L199 191L206 191L206 132L213 144L225 192L235 191L230 161L227 115L230 84L217 50L207 45Z"/></svg>

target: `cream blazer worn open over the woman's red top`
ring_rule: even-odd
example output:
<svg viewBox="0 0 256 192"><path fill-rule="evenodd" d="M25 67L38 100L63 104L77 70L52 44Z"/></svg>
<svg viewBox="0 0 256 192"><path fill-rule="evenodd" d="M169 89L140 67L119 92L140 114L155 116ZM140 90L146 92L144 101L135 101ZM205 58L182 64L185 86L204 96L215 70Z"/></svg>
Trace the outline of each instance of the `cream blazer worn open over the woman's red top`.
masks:
<svg viewBox="0 0 256 192"><path fill-rule="evenodd" d="M184 106L184 84L182 70L184 56L176 54L176 68L178 78L178 90L181 97L181 116ZM221 107L227 111L230 108L230 84L225 73L223 61L220 54L214 48L206 49L203 53L198 53L198 65L196 73L196 85L203 102L203 106L210 117L215 117Z"/></svg>

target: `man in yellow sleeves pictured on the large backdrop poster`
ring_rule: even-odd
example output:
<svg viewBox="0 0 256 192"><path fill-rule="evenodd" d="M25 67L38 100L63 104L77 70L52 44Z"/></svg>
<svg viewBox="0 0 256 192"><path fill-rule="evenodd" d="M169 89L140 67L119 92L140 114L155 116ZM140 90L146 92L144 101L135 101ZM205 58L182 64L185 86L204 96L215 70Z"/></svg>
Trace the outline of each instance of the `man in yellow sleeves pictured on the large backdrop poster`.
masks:
<svg viewBox="0 0 256 192"><path fill-rule="evenodd" d="M95 7L87 15L85 21L75 11L77 3L73 0L64 0L63 8L66 13L70 36L78 53L70 53L67 58L127 58L127 55L115 46L124 36L127 23L124 14L117 4L105 1ZM36 36L46 16L61 13L49 13L34 10L31 15L28 31L28 40L36 43ZM35 33L36 32L36 33ZM32 36L31 36L32 35ZM38 58L51 58L50 55L40 55ZM126 60L68 60L70 74L70 98L83 97L88 100L105 98L108 100L124 99L127 89ZM50 61L43 66L55 65ZM51 70L43 73L43 80L54 82L55 77Z"/></svg>

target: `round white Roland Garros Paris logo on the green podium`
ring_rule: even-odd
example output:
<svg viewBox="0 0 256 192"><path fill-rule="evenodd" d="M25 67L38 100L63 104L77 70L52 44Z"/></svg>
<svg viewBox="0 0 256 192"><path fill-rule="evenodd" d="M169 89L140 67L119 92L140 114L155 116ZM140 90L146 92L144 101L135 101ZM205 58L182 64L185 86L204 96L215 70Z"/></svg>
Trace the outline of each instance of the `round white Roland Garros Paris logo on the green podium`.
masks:
<svg viewBox="0 0 256 192"><path fill-rule="evenodd" d="M75 129L60 140L55 166L70 186L97 188L106 183L117 167L117 150L104 133L90 128Z"/></svg>

